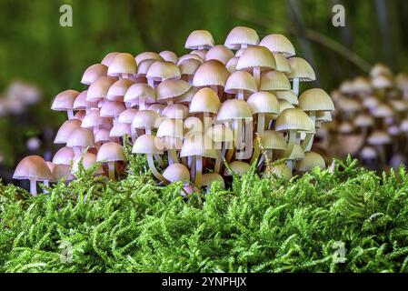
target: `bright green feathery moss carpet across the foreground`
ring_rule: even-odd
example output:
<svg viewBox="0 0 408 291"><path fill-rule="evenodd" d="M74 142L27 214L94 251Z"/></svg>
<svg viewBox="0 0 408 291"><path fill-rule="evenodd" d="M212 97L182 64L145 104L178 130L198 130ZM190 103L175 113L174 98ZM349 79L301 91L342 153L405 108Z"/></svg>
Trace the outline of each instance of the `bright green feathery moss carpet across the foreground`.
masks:
<svg viewBox="0 0 408 291"><path fill-rule="evenodd" d="M379 177L349 158L291 181L251 171L183 197L181 184L156 186L141 156L130 162L118 182L81 171L38 197L0 188L0 271L408 271L403 167Z"/></svg>

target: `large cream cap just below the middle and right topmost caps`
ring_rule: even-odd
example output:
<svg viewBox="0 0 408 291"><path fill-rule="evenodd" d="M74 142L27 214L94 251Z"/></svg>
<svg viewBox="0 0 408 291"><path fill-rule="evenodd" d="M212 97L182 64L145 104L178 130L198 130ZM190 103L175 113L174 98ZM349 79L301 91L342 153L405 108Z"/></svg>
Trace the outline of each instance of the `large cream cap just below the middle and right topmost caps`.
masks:
<svg viewBox="0 0 408 291"><path fill-rule="evenodd" d="M260 67L262 71L275 69L274 55L264 46L249 46L239 57L236 68L238 70Z"/></svg>

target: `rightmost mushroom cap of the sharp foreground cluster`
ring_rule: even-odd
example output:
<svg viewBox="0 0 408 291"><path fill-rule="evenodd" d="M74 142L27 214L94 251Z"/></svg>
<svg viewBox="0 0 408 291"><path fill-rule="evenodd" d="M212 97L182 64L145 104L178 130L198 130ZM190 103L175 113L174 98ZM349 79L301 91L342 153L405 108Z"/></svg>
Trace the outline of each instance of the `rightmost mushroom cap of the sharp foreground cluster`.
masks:
<svg viewBox="0 0 408 291"><path fill-rule="evenodd" d="M332 98L320 88L304 91L299 97L299 107L306 112L334 110Z"/></svg>

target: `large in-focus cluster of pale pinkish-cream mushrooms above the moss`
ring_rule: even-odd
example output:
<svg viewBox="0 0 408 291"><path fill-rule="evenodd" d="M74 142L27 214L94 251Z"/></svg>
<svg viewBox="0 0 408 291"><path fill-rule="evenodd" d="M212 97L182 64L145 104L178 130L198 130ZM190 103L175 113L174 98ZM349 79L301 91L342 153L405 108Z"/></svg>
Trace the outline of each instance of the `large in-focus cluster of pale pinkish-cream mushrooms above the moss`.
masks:
<svg viewBox="0 0 408 291"><path fill-rule="evenodd" d="M127 136L158 180L183 181L190 189L223 184L252 163L263 171L278 158L286 158L272 168L278 176L325 167L311 147L333 102L319 88L298 96L299 83L315 75L284 35L260 41L254 29L237 26L224 45L215 45L208 31L195 30L185 48L189 53L181 56L114 52L89 66L81 81L87 90L66 90L52 105L68 117L55 136L65 146L47 169L37 156L26 157L15 178L70 180L82 157L85 168L104 162L95 175L114 179Z"/></svg>

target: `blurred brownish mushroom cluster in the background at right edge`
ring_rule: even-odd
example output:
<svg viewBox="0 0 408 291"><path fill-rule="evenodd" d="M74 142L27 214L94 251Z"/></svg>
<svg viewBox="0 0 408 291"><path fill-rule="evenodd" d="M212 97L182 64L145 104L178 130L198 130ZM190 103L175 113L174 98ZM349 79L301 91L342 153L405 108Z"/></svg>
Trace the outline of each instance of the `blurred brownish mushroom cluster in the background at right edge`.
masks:
<svg viewBox="0 0 408 291"><path fill-rule="evenodd" d="M407 162L408 75L377 64L370 75L344 81L332 97L333 122L317 134L332 156L351 154L373 169Z"/></svg>

